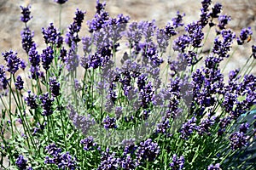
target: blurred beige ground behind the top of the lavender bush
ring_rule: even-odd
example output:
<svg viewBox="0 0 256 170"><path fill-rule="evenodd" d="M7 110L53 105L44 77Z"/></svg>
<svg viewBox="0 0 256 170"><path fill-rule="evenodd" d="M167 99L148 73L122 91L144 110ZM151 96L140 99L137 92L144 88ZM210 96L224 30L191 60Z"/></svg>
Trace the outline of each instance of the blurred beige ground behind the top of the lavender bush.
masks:
<svg viewBox="0 0 256 170"><path fill-rule="evenodd" d="M156 20L159 27L164 27L168 21L172 20L177 13L185 13L185 24L189 24L199 19L201 1L200 0L106 0L107 10L110 16L125 14L133 20ZM230 28L238 35L241 28L251 26L254 31L252 41L245 47L239 47L234 59L228 66L235 68L246 62L247 57L251 54L251 46L256 42L256 1L254 0L220 0L212 3L222 3L223 14L229 14L232 18ZM45 48L42 36L42 27L49 26L53 22L59 26L58 14L59 5L54 0L0 0L0 51L4 52L10 48L17 51L21 58L26 57L24 50L21 48L20 31L24 24L20 21L20 5L26 6L31 4L32 20L28 26L34 31L34 41L38 44L39 54ZM89 34L86 27L86 21L91 20L96 12L96 0L69 0L64 3L62 8L61 29L64 33L67 26L73 21L76 8L86 10L84 27L80 37ZM214 32L213 32L214 33ZM212 36L214 36L212 34ZM211 35L210 35L211 37ZM207 44L210 48L211 44ZM2 62L3 59L0 58ZM255 71L254 71L255 72Z"/></svg>

